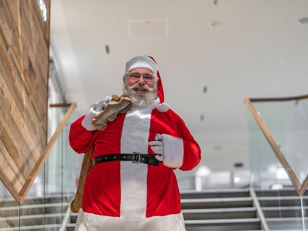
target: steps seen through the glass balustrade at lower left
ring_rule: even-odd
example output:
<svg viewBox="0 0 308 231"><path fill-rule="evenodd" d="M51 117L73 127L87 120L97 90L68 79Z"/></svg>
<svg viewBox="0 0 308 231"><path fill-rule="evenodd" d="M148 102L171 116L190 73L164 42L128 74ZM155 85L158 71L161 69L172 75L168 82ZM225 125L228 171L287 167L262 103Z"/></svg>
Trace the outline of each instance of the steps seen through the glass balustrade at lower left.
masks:
<svg viewBox="0 0 308 231"><path fill-rule="evenodd" d="M16 205L15 200L3 200L0 202L0 231L59 230L70 197L71 195L29 197L21 206Z"/></svg>

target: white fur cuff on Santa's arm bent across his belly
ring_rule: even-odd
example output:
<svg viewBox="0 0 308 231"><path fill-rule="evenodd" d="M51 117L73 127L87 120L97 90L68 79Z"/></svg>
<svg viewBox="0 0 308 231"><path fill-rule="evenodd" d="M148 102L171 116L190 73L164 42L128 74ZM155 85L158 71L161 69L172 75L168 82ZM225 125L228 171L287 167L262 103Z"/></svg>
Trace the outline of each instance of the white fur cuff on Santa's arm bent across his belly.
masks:
<svg viewBox="0 0 308 231"><path fill-rule="evenodd" d="M183 164L184 144L183 139L162 134L164 145L164 160L163 165L169 168L178 168Z"/></svg>

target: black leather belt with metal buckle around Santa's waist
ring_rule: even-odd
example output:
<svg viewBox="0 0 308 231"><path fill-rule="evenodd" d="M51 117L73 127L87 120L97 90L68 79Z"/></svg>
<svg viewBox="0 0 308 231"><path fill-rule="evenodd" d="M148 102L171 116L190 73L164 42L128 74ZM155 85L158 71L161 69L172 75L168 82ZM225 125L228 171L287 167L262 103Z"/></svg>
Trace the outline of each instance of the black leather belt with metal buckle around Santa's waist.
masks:
<svg viewBox="0 0 308 231"><path fill-rule="evenodd" d="M121 154L110 154L95 157L93 159L93 165L108 162L108 161L131 161L132 163L144 163L158 166L159 162L154 155L141 154L140 152L133 152L133 154L121 153Z"/></svg>

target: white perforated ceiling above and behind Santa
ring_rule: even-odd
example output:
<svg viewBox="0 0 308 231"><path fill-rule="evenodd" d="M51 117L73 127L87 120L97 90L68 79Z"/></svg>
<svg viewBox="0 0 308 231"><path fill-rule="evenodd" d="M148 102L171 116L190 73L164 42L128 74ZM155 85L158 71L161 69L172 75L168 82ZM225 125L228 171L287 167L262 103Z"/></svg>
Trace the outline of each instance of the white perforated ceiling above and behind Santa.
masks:
<svg viewBox="0 0 308 231"><path fill-rule="evenodd" d="M77 115L121 94L131 57L153 56L165 102L219 170L248 166L244 98L308 92L307 16L308 0L52 0L50 41Z"/></svg>

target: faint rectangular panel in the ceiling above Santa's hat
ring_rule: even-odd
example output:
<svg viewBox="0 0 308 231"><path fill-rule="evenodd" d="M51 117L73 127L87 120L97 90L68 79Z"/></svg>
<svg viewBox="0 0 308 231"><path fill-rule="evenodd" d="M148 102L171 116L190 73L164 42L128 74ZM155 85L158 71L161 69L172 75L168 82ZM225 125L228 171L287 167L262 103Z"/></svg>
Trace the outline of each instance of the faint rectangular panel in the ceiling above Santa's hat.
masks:
<svg viewBox="0 0 308 231"><path fill-rule="evenodd" d="M168 20L130 20L128 28L133 39L167 38Z"/></svg>

